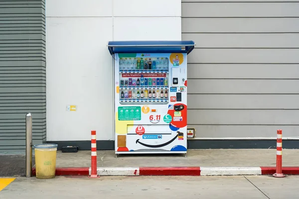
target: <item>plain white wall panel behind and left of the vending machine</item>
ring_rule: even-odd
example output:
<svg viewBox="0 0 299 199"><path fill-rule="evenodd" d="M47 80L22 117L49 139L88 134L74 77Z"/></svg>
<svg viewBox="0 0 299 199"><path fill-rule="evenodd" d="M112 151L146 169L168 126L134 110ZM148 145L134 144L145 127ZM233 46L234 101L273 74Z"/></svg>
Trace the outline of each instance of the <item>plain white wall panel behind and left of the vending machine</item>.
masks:
<svg viewBox="0 0 299 199"><path fill-rule="evenodd" d="M47 141L113 139L111 40L181 40L181 1L47 0Z"/></svg>

